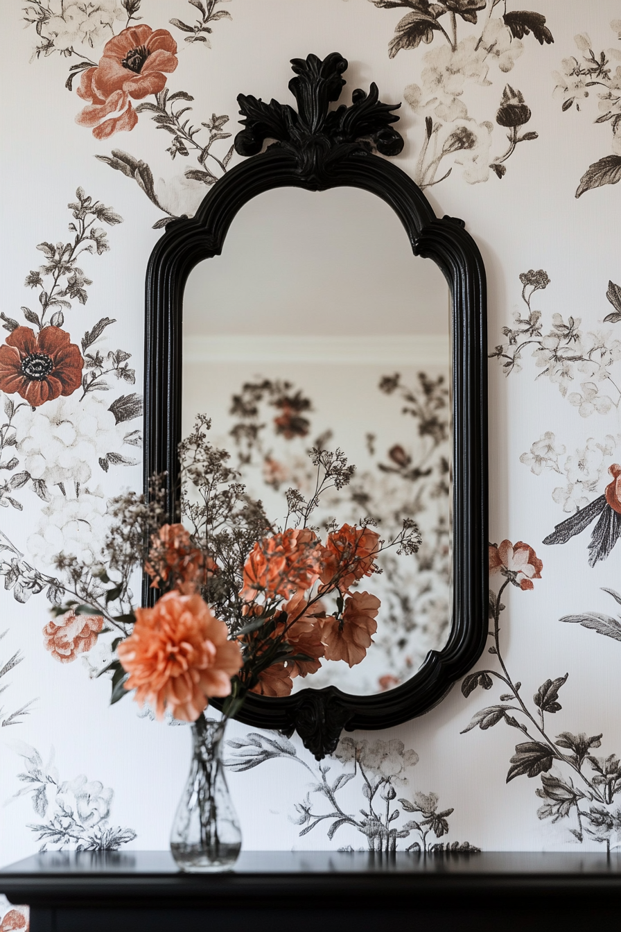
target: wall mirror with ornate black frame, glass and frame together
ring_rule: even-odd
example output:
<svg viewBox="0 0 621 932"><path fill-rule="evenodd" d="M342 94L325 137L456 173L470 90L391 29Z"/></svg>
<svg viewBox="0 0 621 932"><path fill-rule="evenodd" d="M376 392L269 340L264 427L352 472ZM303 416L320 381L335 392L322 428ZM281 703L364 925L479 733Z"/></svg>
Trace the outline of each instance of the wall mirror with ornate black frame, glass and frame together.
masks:
<svg viewBox="0 0 621 932"><path fill-rule="evenodd" d="M290 695L250 693L237 713L297 731L320 760L343 729L426 712L485 647L486 281L464 222L437 218L390 161L403 148L398 106L371 84L333 107L338 52L291 65L297 110L239 95L245 160L151 255L144 487L165 475L175 520L178 445L205 413L276 520L283 490L309 482L319 438L358 467L324 517L354 524L366 510L384 536L395 511L414 513L416 558L372 578L383 587L372 652ZM154 597L145 578L143 604Z"/></svg>

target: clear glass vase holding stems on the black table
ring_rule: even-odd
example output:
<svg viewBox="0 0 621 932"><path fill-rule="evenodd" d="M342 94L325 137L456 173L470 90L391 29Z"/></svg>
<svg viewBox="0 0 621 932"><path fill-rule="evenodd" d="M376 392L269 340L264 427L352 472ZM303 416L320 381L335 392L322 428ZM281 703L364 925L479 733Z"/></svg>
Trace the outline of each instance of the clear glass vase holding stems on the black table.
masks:
<svg viewBox="0 0 621 932"><path fill-rule="evenodd" d="M241 831L222 761L226 721L200 716L192 726L192 765L170 835L172 857L192 873L228 870L241 850Z"/></svg>

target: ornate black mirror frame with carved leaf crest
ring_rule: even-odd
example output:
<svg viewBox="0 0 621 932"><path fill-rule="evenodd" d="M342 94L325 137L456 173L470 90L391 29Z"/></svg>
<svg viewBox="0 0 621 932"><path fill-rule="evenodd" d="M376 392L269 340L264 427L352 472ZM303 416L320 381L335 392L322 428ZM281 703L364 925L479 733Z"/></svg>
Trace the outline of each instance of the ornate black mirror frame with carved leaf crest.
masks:
<svg viewBox="0 0 621 932"><path fill-rule="evenodd" d="M291 62L290 90L298 103L263 103L240 95L244 129L236 151L251 156L214 184L196 216L170 224L155 245L146 281L145 487L167 472L169 514L177 507L177 445L182 424L182 298L191 270L219 255L236 213L272 188L310 191L350 186L370 191L398 214L414 255L433 259L452 291L453 385L453 618L446 646L431 651L407 682L378 695L354 696L334 686L286 698L250 694L238 718L257 728L296 730L317 759L330 753L343 729L381 729L439 703L483 651L488 629L487 359L485 269L464 223L436 218L420 188L383 156L403 140L392 126L398 109L381 103L371 84L355 90L351 106L330 110L344 86L347 62L334 52ZM265 151L265 141L272 141ZM381 269L376 274L381 275ZM153 598L148 584L143 604ZM214 702L217 705L217 702Z"/></svg>

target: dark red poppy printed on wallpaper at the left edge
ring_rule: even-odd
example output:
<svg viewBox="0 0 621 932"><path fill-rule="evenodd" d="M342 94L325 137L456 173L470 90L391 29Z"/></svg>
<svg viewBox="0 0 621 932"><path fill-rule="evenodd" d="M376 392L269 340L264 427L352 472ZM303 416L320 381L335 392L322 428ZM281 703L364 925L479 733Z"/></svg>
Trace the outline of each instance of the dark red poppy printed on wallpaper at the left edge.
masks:
<svg viewBox="0 0 621 932"><path fill-rule="evenodd" d="M0 347L0 391L17 392L38 407L82 385L84 360L60 327L16 327Z"/></svg>

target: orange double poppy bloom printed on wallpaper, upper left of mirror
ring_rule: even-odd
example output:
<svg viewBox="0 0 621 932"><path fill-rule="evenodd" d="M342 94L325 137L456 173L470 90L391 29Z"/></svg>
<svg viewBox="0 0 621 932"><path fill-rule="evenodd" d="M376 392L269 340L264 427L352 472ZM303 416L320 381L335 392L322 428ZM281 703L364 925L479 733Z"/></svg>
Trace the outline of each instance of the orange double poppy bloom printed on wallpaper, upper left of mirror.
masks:
<svg viewBox="0 0 621 932"><path fill-rule="evenodd" d="M82 75L78 95L88 106L76 123L92 129L96 139L120 130L133 130L138 122L129 98L142 100L166 86L166 74L177 67L177 43L167 29L131 26L110 39L99 65Z"/></svg>

